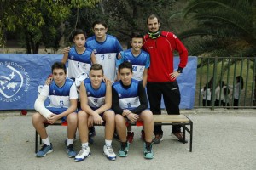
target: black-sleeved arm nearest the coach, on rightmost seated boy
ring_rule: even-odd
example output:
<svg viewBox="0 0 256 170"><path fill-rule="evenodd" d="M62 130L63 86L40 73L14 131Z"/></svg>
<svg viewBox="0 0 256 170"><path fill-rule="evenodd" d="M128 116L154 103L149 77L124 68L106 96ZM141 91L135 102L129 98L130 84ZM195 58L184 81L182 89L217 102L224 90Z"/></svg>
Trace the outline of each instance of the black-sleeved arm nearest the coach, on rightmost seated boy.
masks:
<svg viewBox="0 0 256 170"><path fill-rule="evenodd" d="M144 110L148 109L148 99L145 92L145 88L142 83L138 85L138 94L141 105L137 106L137 108L131 110L131 112L136 113L137 115L141 114Z"/></svg>

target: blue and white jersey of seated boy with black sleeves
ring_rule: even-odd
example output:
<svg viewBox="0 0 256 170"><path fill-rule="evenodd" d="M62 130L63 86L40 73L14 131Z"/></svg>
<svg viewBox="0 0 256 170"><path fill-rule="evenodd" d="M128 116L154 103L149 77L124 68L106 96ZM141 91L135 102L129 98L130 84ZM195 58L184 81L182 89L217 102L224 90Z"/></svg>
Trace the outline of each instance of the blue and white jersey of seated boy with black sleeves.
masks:
<svg viewBox="0 0 256 170"><path fill-rule="evenodd" d="M141 105L138 96L138 84L139 81L131 79L131 87L123 88L121 82L114 82L113 88L119 95L119 106L121 109L132 110Z"/></svg>

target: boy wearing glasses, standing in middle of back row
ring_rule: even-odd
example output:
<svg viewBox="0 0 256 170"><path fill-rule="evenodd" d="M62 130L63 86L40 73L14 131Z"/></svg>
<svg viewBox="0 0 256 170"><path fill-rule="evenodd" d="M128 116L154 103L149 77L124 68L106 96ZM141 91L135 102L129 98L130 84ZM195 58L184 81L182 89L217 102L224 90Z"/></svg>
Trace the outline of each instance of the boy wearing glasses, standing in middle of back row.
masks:
<svg viewBox="0 0 256 170"><path fill-rule="evenodd" d="M85 46L94 51L96 62L102 65L105 77L114 82L116 79L115 60L123 48L116 37L107 34L106 23L96 20L92 24L92 30L95 35L87 39Z"/></svg>

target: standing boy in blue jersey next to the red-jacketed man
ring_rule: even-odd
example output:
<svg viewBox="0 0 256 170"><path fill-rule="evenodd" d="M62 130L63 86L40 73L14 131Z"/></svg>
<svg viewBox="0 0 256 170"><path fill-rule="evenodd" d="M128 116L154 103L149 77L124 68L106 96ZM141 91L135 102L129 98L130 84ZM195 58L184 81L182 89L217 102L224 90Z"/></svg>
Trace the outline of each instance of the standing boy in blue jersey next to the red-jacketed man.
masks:
<svg viewBox="0 0 256 170"><path fill-rule="evenodd" d="M147 84L147 78L148 78L148 68L150 65L150 58L149 54L145 51L143 51L141 48L143 47L143 35L134 32L131 35L130 39L131 48L127 49L125 51L122 51L119 56L121 56L120 59L117 60L117 66L125 61L131 62L132 65L132 78L142 81L144 88ZM119 74L118 74L118 80L119 80ZM131 124L127 127L127 140L131 144L133 140L134 133L131 132ZM145 133L142 130L142 137L143 140L145 138Z"/></svg>

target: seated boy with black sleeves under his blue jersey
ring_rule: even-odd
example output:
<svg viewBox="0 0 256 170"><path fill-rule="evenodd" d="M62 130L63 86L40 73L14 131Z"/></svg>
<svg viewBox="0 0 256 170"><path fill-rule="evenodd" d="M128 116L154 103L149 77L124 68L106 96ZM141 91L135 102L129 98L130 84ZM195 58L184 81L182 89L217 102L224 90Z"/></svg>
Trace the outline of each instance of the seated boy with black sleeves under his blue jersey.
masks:
<svg viewBox="0 0 256 170"><path fill-rule="evenodd" d="M121 141L119 156L125 157L129 151L126 139L126 122L143 121L145 130L144 157L153 159L152 135L154 128L153 114L148 110L148 100L143 84L132 79L132 65L125 61L119 65L120 81L113 83L112 108L115 112L116 129Z"/></svg>

